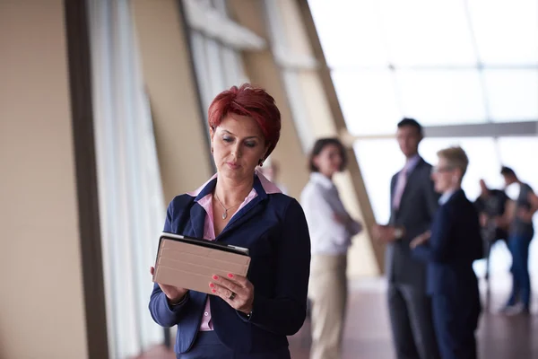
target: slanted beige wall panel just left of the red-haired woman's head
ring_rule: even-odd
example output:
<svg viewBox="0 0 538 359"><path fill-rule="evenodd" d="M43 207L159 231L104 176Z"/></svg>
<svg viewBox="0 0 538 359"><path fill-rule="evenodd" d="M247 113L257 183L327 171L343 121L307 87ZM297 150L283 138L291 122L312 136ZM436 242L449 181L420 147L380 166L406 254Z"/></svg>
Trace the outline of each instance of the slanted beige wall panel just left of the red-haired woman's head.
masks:
<svg viewBox="0 0 538 359"><path fill-rule="evenodd" d="M168 203L211 177L209 144L178 1L134 0L131 4Z"/></svg>

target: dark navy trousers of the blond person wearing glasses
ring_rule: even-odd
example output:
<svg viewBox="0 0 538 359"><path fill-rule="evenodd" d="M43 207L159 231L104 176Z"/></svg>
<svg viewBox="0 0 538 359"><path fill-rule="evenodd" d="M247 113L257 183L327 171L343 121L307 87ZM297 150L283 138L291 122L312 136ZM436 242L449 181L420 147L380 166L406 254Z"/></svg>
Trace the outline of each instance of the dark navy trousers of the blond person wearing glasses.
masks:
<svg viewBox="0 0 538 359"><path fill-rule="evenodd" d="M476 359L474 331L480 300L469 295L432 296L433 322L442 359Z"/></svg>

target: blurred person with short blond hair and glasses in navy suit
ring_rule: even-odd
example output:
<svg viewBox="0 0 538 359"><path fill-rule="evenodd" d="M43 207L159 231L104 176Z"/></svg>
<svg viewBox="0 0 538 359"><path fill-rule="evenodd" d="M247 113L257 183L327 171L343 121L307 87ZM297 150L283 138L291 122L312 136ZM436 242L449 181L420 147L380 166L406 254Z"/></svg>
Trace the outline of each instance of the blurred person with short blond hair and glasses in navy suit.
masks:
<svg viewBox="0 0 538 359"><path fill-rule="evenodd" d="M469 160L461 147L438 152L431 177L442 193L430 231L410 244L413 255L428 263L427 293L442 359L476 358L481 302L473 261L482 258L478 213L461 188Z"/></svg>

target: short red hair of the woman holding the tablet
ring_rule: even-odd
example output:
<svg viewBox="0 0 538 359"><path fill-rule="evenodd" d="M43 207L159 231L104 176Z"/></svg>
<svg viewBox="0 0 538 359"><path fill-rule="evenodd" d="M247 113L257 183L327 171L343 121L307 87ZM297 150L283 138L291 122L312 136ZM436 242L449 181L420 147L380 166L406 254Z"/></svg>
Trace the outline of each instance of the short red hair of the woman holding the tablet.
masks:
<svg viewBox="0 0 538 359"><path fill-rule="evenodd" d="M269 144L265 157L269 156L278 143L281 130L280 110L273 96L250 83L243 83L239 88L232 86L230 90L219 93L209 106L209 127L218 127L222 119L231 114L254 118L264 134L265 143Z"/></svg>

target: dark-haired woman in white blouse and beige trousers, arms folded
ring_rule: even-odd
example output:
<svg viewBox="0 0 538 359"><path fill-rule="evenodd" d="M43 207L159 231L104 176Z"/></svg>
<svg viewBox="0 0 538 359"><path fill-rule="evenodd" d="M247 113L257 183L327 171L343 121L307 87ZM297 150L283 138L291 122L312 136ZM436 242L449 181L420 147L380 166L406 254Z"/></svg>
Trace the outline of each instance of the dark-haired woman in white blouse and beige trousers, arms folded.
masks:
<svg viewBox="0 0 538 359"><path fill-rule="evenodd" d="M312 312L310 357L340 358L347 301L347 250L361 225L345 210L333 176L347 156L336 138L317 140L310 153L310 180L301 194L307 217L312 259L308 297Z"/></svg>

